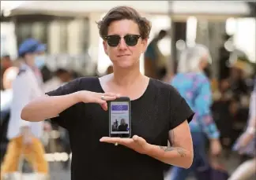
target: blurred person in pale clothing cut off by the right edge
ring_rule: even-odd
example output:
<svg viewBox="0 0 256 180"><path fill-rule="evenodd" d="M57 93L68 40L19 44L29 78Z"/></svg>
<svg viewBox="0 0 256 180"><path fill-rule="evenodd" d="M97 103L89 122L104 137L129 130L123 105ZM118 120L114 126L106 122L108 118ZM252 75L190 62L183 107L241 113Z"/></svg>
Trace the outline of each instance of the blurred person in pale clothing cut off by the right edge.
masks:
<svg viewBox="0 0 256 180"><path fill-rule="evenodd" d="M247 128L235 143L234 150L239 154L251 156L250 160L242 163L228 180L248 180L256 173L256 78L254 90L250 96L250 113Z"/></svg>

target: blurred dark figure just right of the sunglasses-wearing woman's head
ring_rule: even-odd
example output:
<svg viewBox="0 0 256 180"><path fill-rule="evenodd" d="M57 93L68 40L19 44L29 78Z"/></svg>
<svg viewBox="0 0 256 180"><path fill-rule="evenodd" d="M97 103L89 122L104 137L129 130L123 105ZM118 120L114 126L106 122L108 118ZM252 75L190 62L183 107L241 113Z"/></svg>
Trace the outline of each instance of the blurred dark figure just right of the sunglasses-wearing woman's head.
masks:
<svg viewBox="0 0 256 180"><path fill-rule="evenodd" d="M164 39L166 35L168 35L167 31L161 30L145 50L145 75L150 78L161 79L167 72L166 67L168 64L166 57L164 57L164 54L161 53L158 47L158 42Z"/></svg>

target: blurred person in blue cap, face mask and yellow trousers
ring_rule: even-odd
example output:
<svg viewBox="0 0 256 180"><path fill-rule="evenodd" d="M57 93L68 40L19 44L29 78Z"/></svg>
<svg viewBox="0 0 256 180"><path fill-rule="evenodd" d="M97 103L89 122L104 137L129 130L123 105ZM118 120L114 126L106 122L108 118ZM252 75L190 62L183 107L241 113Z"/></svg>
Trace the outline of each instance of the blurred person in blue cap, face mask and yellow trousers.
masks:
<svg viewBox="0 0 256 180"><path fill-rule="evenodd" d="M37 174L47 177L48 164L40 141L43 122L29 123L21 119L21 110L33 98L43 94L40 67L46 47L36 39L26 39L19 46L21 65L16 79L13 80L13 100L10 107L7 138L9 145L2 163L1 179L18 171L19 160L24 156L32 164Z"/></svg>

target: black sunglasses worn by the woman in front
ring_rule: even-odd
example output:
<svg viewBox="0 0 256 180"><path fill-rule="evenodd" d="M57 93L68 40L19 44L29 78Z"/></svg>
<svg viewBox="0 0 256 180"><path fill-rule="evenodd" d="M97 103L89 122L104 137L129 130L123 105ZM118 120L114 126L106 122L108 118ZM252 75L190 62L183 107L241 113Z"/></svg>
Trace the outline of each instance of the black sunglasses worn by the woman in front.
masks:
<svg viewBox="0 0 256 180"><path fill-rule="evenodd" d="M107 35L104 38L111 47L118 46L121 41L120 35ZM139 38L141 38L141 35L125 35L123 37L127 46L136 46Z"/></svg>

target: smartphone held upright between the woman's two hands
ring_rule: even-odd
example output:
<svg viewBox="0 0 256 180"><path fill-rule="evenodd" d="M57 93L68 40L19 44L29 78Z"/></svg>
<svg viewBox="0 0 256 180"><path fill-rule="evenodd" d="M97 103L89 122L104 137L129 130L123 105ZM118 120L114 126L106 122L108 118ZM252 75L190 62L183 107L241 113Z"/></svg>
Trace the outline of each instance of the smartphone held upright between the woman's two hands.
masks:
<svg viewBox="0 0 256 180"><path fill-rule="evenodd" d="M130 138L130 98L119 97L108 101L109 136Z"/></svg>

